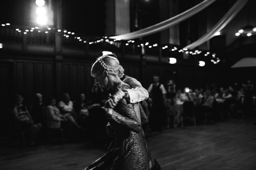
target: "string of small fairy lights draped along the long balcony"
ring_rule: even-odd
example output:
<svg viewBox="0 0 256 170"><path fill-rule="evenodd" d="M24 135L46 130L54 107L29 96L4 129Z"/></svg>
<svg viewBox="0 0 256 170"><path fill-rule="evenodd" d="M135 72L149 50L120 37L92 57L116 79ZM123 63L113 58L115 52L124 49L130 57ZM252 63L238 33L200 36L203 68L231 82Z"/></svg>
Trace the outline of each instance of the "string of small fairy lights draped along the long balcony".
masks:
<svg viewBox="0 0 256 170"><path fill-rule="evenodd" d="M10 23L6 23L6 24L1 24L2 27L5 26L10 26ZM101 42L107 42L111 45L116 45L116 42L120 42L120 39L109 39L108 37L102 37L98 40L94 40L94 41L90 41L87 42L86 40L83 40L82 37L77 36L75 32L72 31L67 31L65 29L55 29L55 28L45 28L45 29L41 29L39 27L32 27L29 29L25 29L25 31L20 30L20 28L15 28L15 30L19 33L23 34L29 34L30 32L38 32L38 33L44 33L44 34L48 34L49 31L58 31L60 33L63 33L63 36L66 37L67 39L69 38L74 38L76 40L78 40L79 42L83 42L83 43L88 43L89 45L92 44L96 44L96 43L101 43ZM125 45L134 45L136 44L135 40L128 40L127 42L125 42ZM137 47L147 47L147 48L159 48L160 45L158 45L157 43L150 43L150 42L145 42L145 43L137 43ZM178 48L178 47L170 47L168 45L164 45L163 47L161 47L162 50L168 50L170 52L175 52L178 51L179 53L185 53L185 54L191 54L191 55L198 55L198 54L204 54L205 57L207 57L208 55L211 56L211 62L214 64L218 64L218 62L220 62L221 60L216 57L215 53L211 53L209 51L201 51L201 50L189 50L187 48Z"/></svg>

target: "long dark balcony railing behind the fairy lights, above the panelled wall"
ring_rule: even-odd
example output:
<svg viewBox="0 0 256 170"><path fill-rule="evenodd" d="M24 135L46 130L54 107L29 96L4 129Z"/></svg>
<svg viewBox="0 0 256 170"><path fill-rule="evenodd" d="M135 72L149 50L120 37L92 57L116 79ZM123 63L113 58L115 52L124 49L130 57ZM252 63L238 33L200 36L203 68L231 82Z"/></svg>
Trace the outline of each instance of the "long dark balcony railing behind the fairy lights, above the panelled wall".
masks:
<svg viewBox="0 0 256 170"><path fill-rule="evenodd" d="M140 42L140 40L135 42L128 42L127 40L115 41L107 37L93 37L53 28L42 29L27 26L2 25L0 26L0 42L23 45L23 50L27 49L27 45L47 45L52 48L60 46L61 48L73 48L84 51L106 50L122 54L143 54L141 47L142 42ZM148 48L148 46L144 48L146 55L156 57L170 56L169 50L161 50L160 45L155 47L151 46L151 48ZM180 56L178 52L175 55Z"/></svg>

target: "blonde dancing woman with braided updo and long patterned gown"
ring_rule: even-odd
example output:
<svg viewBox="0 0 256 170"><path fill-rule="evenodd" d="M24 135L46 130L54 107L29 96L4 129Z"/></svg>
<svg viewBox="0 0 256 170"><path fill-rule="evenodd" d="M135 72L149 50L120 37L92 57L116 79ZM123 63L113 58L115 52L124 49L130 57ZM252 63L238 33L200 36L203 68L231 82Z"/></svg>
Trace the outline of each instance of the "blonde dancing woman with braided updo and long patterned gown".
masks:
<svg viewBox="0 0 256 170"><path fill-rule="evenodd" d="M118 59L108 55L99 57L91 69L96 81L104 88L111 88L115 95L118 95L116 91L131 89L119 78L123 72ZM160 165L147 149L142 125L148 120L141 105L120 99L116 107L106 109L106 113L115 132L114 146L85 170L160 170Z"/></svg>

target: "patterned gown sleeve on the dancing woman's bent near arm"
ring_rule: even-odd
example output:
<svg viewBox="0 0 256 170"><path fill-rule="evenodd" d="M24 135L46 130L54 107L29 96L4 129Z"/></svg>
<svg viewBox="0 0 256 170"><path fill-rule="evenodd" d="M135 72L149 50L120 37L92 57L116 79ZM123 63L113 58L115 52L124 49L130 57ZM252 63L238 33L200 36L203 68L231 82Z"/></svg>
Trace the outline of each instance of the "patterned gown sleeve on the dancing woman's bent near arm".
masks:
<svg viewBox="0 0 256 170"><path fill-rule="evenodd" d="M125 99L118 102L111 115L111 120L122 125L125 129L140 133L141 125L136 116L133 104L127 104Z"/></svg>

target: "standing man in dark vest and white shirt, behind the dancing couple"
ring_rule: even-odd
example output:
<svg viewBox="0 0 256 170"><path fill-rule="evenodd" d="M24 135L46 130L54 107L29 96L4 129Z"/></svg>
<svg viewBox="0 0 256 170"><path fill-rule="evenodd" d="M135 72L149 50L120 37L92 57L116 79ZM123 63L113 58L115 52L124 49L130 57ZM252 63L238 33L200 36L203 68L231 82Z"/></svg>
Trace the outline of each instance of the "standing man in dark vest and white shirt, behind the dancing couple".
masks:
<svg viewBox="0 0 256 170"><path fill-rule="evenodd" d="M154 83L148 88L149 97L152 100L152 113L149 124L152 131L161 132L165 124L166 107L164 104L166 90L163 84L159 83L159 76L155 75Z"/></svg>

